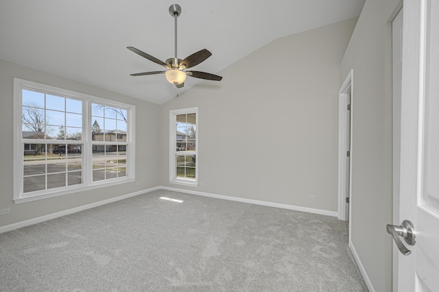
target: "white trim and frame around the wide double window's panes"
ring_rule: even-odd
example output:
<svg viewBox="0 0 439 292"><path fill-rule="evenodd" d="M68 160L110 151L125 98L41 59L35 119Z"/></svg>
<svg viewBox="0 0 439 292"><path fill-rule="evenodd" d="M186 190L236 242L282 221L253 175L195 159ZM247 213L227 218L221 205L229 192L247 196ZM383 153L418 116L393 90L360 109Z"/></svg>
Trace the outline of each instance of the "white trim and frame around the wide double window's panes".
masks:
<svg viewBox="0 0 439 292"><path fill-rule="evenodd" d="M61 95L63 97L72 97L74 99L81 99L82 103L82 123L83 133L82 142L84 148L82 150L82 177L83 183L74 186L65 186L60 188L51 188L44 191L31 192L28 195L23 193L23 139L21 129L21 110L22 110L22 89L27 88L29 90L42 90L46 93L52 93L54 95ZM127 119L130 123L127 124L128 132L128 157L127 168L128 175L123 178L115 178L109 180L99 180L97 182L92 181L92 165L93 155L91 154L91 147L93 141L91 140L91 130L88 127L88 119L91 119L91 104L103 104L106 106L116 106L127 110ZM75 91L40 84L28 80L22 80L14 77L14 203L21 204L24 202L32 202L38 199L45 199L48 197L57 197L59 195L67 195L69 193L77 193L79 191L88 191L95 188L101 188L104 186L112 186L116 184L123 184L127 182L134 182L135 180L135 112L136 107L130 104L123 104L118 101L112 101L109 99L103 99L92 95L86 95L83 93L77 93ZM90 117L89 117L90 116ZM44 141L44 143L51 143L50 140Z"/></svg>

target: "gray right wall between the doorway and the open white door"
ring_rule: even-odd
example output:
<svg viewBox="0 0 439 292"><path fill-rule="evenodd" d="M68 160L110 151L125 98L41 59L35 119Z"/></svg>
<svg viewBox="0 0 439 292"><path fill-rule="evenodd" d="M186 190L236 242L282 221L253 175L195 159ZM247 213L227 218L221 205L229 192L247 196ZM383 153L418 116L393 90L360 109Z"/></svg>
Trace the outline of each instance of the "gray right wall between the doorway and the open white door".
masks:
<svg viewBox="0 0 439 292"><path fill-rule="evenodd" d="M392 64L398 0L367 0L340 65L353 69L352 243L376 291L392 290Z"/></svg>

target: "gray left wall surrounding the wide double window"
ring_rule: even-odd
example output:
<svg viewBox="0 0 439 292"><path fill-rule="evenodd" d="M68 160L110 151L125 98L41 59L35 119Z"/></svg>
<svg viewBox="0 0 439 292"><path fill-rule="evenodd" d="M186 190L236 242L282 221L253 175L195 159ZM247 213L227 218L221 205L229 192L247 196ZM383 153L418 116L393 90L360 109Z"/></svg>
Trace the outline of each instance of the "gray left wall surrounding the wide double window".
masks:
<svg viewBox="0 0 439 292"><path fill-rule="evenodd" d="M131 182L98 188L93 191L14 204L12 201L14 77L136 106L136 182L140 182L140 184L136 185L136 182ZM158 186L156 171L158 168L158 156L156 155L158 153L158 143L155 138L158 136L159 130L159 108L157 105L4 60L0 60L0 100L0 209L10 208L10 214L0 216L0 226L7 226L19 221Z"/></svg>

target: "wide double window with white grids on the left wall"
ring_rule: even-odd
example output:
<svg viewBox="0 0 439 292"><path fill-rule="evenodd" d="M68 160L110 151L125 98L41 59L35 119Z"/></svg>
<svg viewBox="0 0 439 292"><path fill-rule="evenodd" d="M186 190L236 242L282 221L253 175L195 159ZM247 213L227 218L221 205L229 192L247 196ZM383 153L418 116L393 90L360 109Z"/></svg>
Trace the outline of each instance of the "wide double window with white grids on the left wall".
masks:
<svg viewBox="0 0 439 292"><path fill-rule="evenodd" d="M134 106L14 79L14 200L134 180Z"/></svg>

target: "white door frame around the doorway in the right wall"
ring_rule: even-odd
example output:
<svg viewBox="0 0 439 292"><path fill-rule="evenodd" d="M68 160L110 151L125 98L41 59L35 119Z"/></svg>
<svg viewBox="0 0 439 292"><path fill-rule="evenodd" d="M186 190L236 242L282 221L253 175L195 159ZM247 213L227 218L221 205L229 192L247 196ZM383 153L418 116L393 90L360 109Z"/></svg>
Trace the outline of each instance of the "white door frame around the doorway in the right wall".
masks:
<svg viewBox="0 0 439 292"><path fill-rule="evenodd" d="M349 138L351 149L353 133L353 74L351 69L338 92L338 219L349 221L349 242L351 242L351 204L352 204L352 171L349 171L349 189L346 190L346 143ZM351 95L351 129L349 137L346 133L347 117L346 107L348 106L348 96ZM350 150L349 169L352 170L352 150ZM349 215L346 215L346 191L349 191Z"/></svg>

